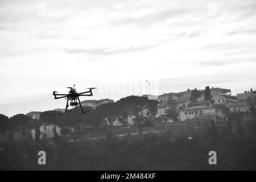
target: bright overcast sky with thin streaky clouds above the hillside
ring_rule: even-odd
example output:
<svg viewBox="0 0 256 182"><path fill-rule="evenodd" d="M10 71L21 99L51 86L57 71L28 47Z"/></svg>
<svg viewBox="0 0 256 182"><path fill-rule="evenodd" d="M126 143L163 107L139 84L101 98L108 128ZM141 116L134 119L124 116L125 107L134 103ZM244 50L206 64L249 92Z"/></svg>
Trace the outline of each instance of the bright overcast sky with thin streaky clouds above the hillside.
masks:
<svg viewBox="0 0 256 182"><path fill-rule="evenodd" d="M0 1L0 113L63 108L52 91L73 84L99 88L82 100L149 93L145 79L154 94L255 90L255 10L254 0Z"/></svg>

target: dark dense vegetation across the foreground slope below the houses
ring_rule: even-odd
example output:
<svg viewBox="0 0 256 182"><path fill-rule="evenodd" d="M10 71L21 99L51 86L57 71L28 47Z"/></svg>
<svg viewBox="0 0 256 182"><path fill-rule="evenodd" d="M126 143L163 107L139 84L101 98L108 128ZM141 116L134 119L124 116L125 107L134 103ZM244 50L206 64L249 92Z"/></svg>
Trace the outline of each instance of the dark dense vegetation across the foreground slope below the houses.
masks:
<svg viewBox="0 0 256 182"><path fill-rule="evenodd" d="M108 133L102 140L55 144L45 140L10 140L0 151L0 169L32 170L255 170L256 120L242 121L242 130L226 125L204 125L170 130L159 135L117 138ZM202 122L201 122L202 123ZM192 124L188 123L188 124ZM203 129L203 130L201 130ZM188 139L191 137L192 139ZM46 151L46 166L38 165L38 151ZM217 152L217 165L208 164L208 152Z"/></svg>

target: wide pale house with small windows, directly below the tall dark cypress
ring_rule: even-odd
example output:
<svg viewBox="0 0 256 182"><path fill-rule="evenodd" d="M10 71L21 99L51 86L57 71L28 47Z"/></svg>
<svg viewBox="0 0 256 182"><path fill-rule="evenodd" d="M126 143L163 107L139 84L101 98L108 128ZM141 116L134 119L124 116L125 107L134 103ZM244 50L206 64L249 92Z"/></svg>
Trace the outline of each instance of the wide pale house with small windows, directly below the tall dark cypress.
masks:
<svg viewBox="0 0 256 182"><path fill-rule="evenodd" d="M210 101L205 101L180 110L178 116L179 121L197 118L209 118L214 121L222 121L222 119L225 119L225 115L222 113L221 109L214 107Z"/></svg>

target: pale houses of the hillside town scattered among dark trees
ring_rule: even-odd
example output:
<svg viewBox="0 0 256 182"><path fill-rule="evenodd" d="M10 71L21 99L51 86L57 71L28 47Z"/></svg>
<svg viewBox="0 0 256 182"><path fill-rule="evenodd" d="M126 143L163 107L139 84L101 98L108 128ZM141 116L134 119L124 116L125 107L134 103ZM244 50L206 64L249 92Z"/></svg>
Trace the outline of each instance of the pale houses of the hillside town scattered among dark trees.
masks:
<svg viewBox="0 0 256 182"><path fill-rule="evenodd" d="M250 89L244 93L238 93L237 96L232 96L231 89L224 88L209 88L204 90L187 89L178 93L163 93L159 96L151 96L145 94L140 96L147 100L157 101L156 112L150 113L147 108L139 117L142 123L146 121L154 121L154 123L182 123L193 122L198 119L208 119L214 122L228 122L230 114L239 114L240 117L249 118L251 115L252 106L256 106L256 90ZM82 107L92 107L96 109L98 106L113 104L114 100L108 98L102 100L84 100L81 102ZM54 111L63 112L65 109L55 109ZM31 111L28 116L40 120L39 111ZM138 116L129 114L126 118L117 115L113 121L109 121L106 117L104 121L114 128L130 128L138 126ZM53 137L54 125L42 123L40 127L41 133L44 133L47 138ZM56 126L57 134L61 135L61 129ZM88 127L88 126L84 126ZM72 131L75 131L71 127ZM35 130L32 130L32 135L35 137Z"/></svg>

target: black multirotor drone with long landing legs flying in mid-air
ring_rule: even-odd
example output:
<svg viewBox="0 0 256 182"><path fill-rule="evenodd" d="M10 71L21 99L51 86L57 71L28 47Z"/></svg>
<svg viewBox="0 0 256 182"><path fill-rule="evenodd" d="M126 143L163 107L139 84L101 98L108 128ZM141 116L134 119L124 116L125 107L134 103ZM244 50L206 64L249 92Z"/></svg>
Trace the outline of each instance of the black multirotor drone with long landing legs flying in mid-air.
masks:
<svg viewBox="0 0 256 182"><path fill-rule="evenodd" d="M84 114L84 113L89 112L89 110L84 111L84 110L82 109L82 105L81 105L81 102L80 102L79 97L80 97L80 96L93 96L93 94L92 94L92 89L97 89L97 88L94 88L94 87L93 87L93 88L87 88L87 89L89 89L89 91L77 93L77 92L76 92L76 88L75 88L76 85L73 85L73 86L74 86L74 87L67 87L68 89L70 89L69 92L68 92L68 94L59 94L59 93L56 92L56 91L53 91L53 93L52 93L53 96L54 96L54 99L60 99L60 98L65 98L65 99L67 99L67 104L66 104L65 112L64 112L64 113L61 113L61 114L65 114L65 113L68 113L68 112L72 111L72 110L67 110L69 105L70 105L70 106L77 106L78 104L80 105L81 110L82 110L82 113L81 113L81 114ZM86 93L90 93L90 94L86 94ZM60 97L57 97L57 96L60 96ZM77 100L79 101L79 103L77 103ZM69 102L69 105L68 105L68 102ZM60 115L61 115L61 114L60 114ZM77 115L81 115L81 114L77 114Z"/></svg>

